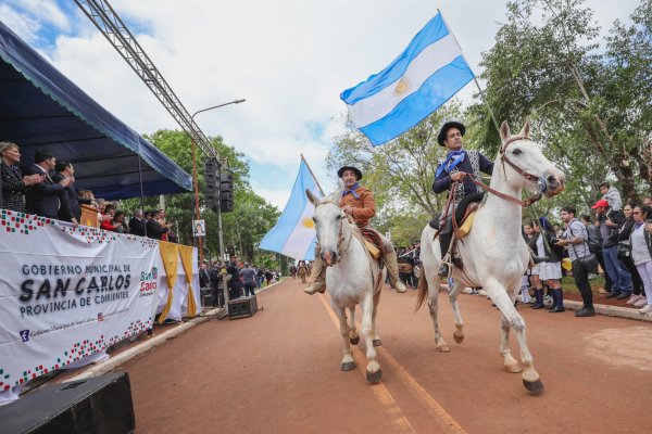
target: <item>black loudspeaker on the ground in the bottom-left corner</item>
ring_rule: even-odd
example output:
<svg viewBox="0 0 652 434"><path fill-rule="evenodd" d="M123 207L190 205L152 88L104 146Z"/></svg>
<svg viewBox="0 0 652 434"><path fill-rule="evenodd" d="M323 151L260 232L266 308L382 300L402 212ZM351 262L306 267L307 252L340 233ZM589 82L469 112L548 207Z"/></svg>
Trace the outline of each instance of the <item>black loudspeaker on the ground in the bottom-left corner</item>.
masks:
<svg viewBox="0 0 652 434"><path fill-rule="evenodd" d="M0 407L0 433L123 434L136 427L126 372L57 384Z"/></svg>

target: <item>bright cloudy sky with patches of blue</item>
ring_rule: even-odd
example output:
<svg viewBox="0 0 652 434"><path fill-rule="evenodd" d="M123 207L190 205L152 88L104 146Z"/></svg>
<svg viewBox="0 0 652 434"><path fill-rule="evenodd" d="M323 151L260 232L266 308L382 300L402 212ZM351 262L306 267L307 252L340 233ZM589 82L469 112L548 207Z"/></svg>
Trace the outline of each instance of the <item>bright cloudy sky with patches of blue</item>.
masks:
<svg viewBox="0 0 652 434"><path fill-rule="evenodd" d="M638 0L588 0L606 34ZM283 209L303 154L329 190L325 159L344 131L342 90L385 68L440 9L481 73L505 0L110 0L208 136L242 152L253 190ZM72 0L0 0L0 20L140 133L180 129ZM456 98L467 104L467 85Z"/></svg>

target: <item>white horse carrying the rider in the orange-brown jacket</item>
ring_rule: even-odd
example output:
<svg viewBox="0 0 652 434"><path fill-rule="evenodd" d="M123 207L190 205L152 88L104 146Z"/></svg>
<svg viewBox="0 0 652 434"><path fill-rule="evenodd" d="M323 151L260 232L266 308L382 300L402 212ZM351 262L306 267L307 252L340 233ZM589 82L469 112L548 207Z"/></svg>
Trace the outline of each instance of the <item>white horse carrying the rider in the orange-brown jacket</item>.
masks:
<svg viewBox="0 0 652 434"><path fill-rule="evenodd" d="M383 372L374 346L380 345L376 334L376 314L380 301L380 289L385 282L386 269L368 254L362 234L354 224L349 222L338 203L341 189L330 197L318 199L305 191L315 205L313 220L321 246L321 256L326 269L326 292L330 295L330 306L340 322L340 333L344 343L341 370L355 368L351 356L351 344L356 345L360 336L355 329L355 305L362 309L362 333L366 341L366 380L369 384L380 382ZM347 322L347 310L349 321Z"/></svg>

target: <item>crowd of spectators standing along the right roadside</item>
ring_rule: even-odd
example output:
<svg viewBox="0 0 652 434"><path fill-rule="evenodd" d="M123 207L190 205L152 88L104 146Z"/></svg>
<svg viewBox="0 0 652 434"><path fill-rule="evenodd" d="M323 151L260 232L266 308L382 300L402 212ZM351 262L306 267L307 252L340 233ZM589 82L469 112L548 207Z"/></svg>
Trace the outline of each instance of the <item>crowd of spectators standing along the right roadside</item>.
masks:
<svg viewBox="0 0 652 434"><path fill-rule="evenodd" d="M641 315L652 314L652 197L624 203L607 182L600 191L602 197L591 207L593 216L578 219L575 206L564 206L561 225L543 217L524 225L532 255L546 259L532 264L522 285L522 301L531 303L534 309L542 309L548 298L549 311L564 311L560 279L567 268L582 298L575 316L595 315L589 280L598 273L604 276L599 296L637 307Z"/></svg>

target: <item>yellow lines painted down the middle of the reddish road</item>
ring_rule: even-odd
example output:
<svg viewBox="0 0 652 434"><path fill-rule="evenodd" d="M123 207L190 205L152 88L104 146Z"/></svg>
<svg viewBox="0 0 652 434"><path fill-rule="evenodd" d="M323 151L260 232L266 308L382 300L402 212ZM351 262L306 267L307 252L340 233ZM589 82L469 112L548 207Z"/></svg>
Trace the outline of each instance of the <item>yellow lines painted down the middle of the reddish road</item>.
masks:
<svg viewBox="0 0 652 434"><path fill-rule="evenodd" d="M326 302L326 297L322 294L319 295L322 304L328 311L330 319L333 319L333 322L337 326L337 329L339 331L339 320L337 319L337 316L335 315L335 312L333 312L333 309ZM448 411L446 411L443 407L441 407L441 405L439 405L439 403L435 398L432 398L432 396L430 396L430 394L421 384L418 384L418 382L401 366L401 363L399 363L399 361L396 358L393 358L393 356L387 349L385 349L384 347L378 347L376 348L376 353L378 353L379 356L381 356L385 360L389 362L389 365L393 367L393 369L398 373L399 380L403 384L405 384L414 395L416 395L416 397L423 403L423 405L428 410L428 413L430 413L430 416L434 417L435 420L437 420L441 424L442 430L446 430L446 432L449 433L466 434L466 431L455 421L455 419L453 419L453 417L449 414ZM360 352L353 352L353 358L355 359L358 366L362 367L366 365L366 360ZM365 370L363 369L362 371L364 374ZM384 386L383 383L380 383L379 385ZM378 388L378 386L372 387L372 390L374 391L376 388ZM392 405L396 406L396 408L398 408L399 411L401 411L399 406L396 405L396 401L393 400L393 397L391 396L387 387L384 386L383 388L385 391L383 394L387 394L389 399L391 399ZM385 404L383 400L385 397L379 397L378 394L376 394L376 396L378 397L378 400L380 400L381 404ZM410 426L412 432L414 432L414 429L412 427L412 425L410 425L408 419L404 416L402 416L402 418L405 419L405 423L408 423L408 426Z"/></svg>

